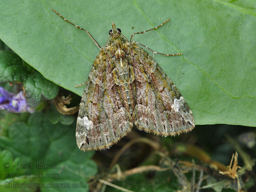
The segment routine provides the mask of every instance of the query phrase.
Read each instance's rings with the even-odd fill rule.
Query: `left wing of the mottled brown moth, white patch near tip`
[[[133,126],[114,83],[109,60],[102,49],[96,57],[80,103],[76,143],[80,150],[98,150],[116,143]]]

